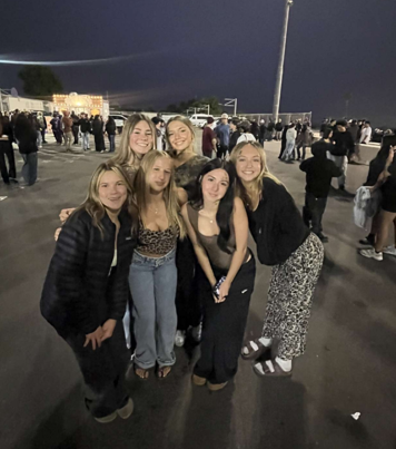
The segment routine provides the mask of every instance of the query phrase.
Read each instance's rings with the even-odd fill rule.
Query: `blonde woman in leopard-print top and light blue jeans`
[[[166,378],[176,362],[176,244],[185,235],[174,162],[167,153],[155,150],[145,156],[133,192],[139,216],[138,245],[129,272],[135,372],[147,379],[149,370],[158,365],[157,375]]]

